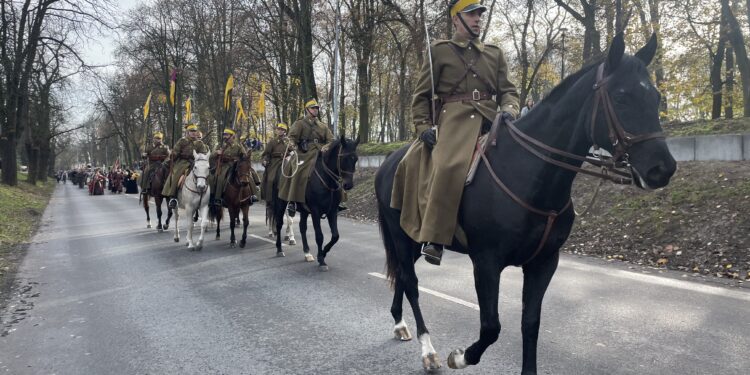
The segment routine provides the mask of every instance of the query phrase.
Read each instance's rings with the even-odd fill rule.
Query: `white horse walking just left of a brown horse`
[[[193,169],[185,178],[185,183],[177,192],[179,206],[174,210],[174,242],[180,242],[180,226],[178,219],[182,208],[188,217],[187,247],[190,250],[200,251],[203,248],[203,234],[208,225],[208,201],[211,199],[211,187],[208,186],[208,154],[199,154],[193,151]],[[193,215],[198,212],[201,220],[201,235],[198,241],[193,241],[193,227],[195,220]]]

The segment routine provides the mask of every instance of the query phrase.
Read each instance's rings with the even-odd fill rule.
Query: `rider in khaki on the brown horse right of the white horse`
[[[224,129],[221,139],[222,144],[208,159],[211,169],[213,170],[213,173],[211,174],[213,177],[211,181],[211,191],[214,193],[213,204],[219,207],[224,204],[224,201],[222,200],[224,188],[227,186],[229,172],[234,167],[234,163],[241,158],[250,157],[250,154],[245,147],[235,142],[235,131],[233,129]],[[250,184],[250,189],[252,190],[250,204],[252,204],[252,202],[258,201],[258,197],[254,184]]]

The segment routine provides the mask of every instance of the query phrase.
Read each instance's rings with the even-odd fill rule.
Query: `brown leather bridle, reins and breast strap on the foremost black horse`
[[[553,164],[555,166],[558,166],[563,169],[567,169],[576,173],[584,173],[591,176],[599,177],[602,179],[611,180],[616,183],[620,184],[631,184],[633,183],[633,175],[630,168],[630,162],[629,162],[629,154],[628,150],[635,144],[644,142],[650,139],[657,139],[657,138],[664,138],[663,132],[654,132],[654,133],[647,133],[642,135],[633,135],[628,133],[620,123],[620,120],[617,117],[617,114],[614,110],[614,105],[612,104],[612,99],[609,97],[609,93],[606,90],[607,83],[609,82],[612,75],[604,76],[604,63],[601,63],[596,72],[596,83],[594,83],[594,86],[592,87],[594,90],[594,104],[593,109],[591,111],[591,132],[589,134],[590,140],[593,143],[593,147],[595,150],[595,153],[593,156],[579,156],[572,153],[569,153],[567,151],[563,151],[551,146],[548,146],[539,140],[530,137],[529,135],[523,133],[521,130],[519,130],[511,121],[502,121],[501,114],[498,114],[497,117],[495,117],[495,121],[493,122],[492,129],[490,130],[489,134],[489,140],[490,144],[492,146],[497,145],[497,130],[502,123],[508,128],[508,133],[510,133],[513,140],[521,145],[524,149],[535,155],[536,157],[544,160],[545,162],[548,162],[550,164]],[[600,149],[600,146],[596,144],[596,138],[594,137],[595,129],[596,129],[596,119],[599,112],[599,107],[602,107],[603,110],[601,113],[604,114],[604,119],[607,123],[607,129],[609,133],[609,140],[612,143],[612,147],[614,148],[614,154],[611,158],[604,157],[600,153],[596,153]],[[576,167],[574,165],[571,165],[570,163],[566,163],[561,160],[554,159],[548,155],[545,155],[539,150],[535,149],[534,147],[541,148],[548,153],[552,155],[558,155],[562,156],[564,158],[578,160],[582,162],[587,162],[589,164],[598,166],[601,168],[601,172],[586,170],[580,167]],[[542,240],[539,243],[539,246],[536,248],[534,253],[529,257],[527,260],[525,260],[523,264],[527,264],[532,259],[534,259],[539,252],[544,248],[544,245],[547,242],[547,238],[549,237],[549,234],[552,230],[552,226],[555,223],[555,220],[557,217],[567,211],[573,201],[571,199],[568,199],[568,202],[563,206],[562,209],[556,211],[556,210],[541,210],[536,207],[531,206],[530,204],[526,203],[523,199],[521,199],[518,195],[513,193],[497,176],[495,171],[492,169],[492,165],[490,164],[489,159],[487,159],[486,156],[486,149],[485,151],[482,151],[480,153],[480,157],[482,158],[482,161],[484,161],[484,165],[487,168],[487,171],[492,176],[492,179],[495,181],[495,184],[497,184],[500,189],[502,189],[508,196],[511,197],[516,203],[518,203],[521,207],[535,213],[541,216],[547,217],[547,225],[544,228],[544,234],[542,236]]]

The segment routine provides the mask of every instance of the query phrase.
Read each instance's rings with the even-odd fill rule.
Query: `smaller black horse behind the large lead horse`
[[[357,145],[359,139],[351,140],[341,136],[331,143],[327,152],[321,152],[315,161],[310,178],[305,190],[305,205],[297,205],[300,213],[299,230],[302,236],[302,251],[305,259],[309,262],[314,258],[310,254],[310,246],[307,244],[307,217],[312,216],[313,228],[315,229],[315,243],[318,245],[318,266],[321,271],[328,271],[325,262],[326,255],[333,245],[339,240],[338,229],[338,206],[341,203],[342,190],[351,190],[354,187],[354,170],[357,164]],[[282,168],[279,168],[281,173]],[[279,181],[277,176],[275,181]],[[281,233],[284,224],[284,210],[287,202],[279,197],[277,183],[273,187],[273,222],[276,223],[276,233]],[[279,218],[274,220],[274,218]],[[331,229],[331,241],[323,247],[323,230],[320,220],[328,219]],[[276,253],[283,256],[281,250],[281,236],[276,236]]]

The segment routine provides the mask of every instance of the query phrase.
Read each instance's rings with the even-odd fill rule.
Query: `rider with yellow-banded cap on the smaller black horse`
[[[328,145],[333,142],[331,129],[320,121],[318,101],[315,98],[307,99],[304,111],[304,116],[295,121],[289,130],[289,149],[297,153],[302,164],[297,169],[293,163],[287,163],[279,182],[279,198],[289,202],[287,209],[291,213],[296,211],[297,203],[305,204],[305,189],[310,174],[315,169],[315,161],[320,152],[327,151]],[[291,178],[287,177],[290,175]],[[345,200],[346,195],[342,193],[341,201]],[[339,205],[339,211],[345,209],[346,207]]]

